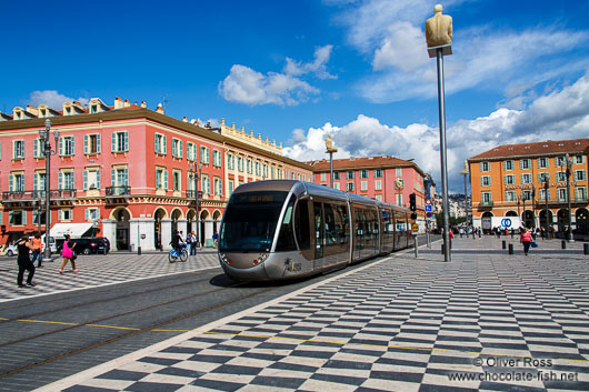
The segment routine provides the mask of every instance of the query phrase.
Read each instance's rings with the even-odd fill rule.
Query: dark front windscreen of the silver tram
[[[220,232],[221,251],[270,251],[287,192],[233,193]]]

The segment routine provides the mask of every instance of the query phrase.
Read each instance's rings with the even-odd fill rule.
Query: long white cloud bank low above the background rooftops
[[[395,155],[413,158],[440,184],[440,142],[438,127],[415,123],[406,128],[382,124],[359,114],[342,127],[296,130],[284,153],[298,160],[327,159],[325,138],[331,133],[339,149],[335,158]],[[523,110],[500,108],[489,115],[461,120],[447,128],[448,182],[451,192],[463,192],[459,173],[470,157],[509,143],[587,138],[589,135],[589,72],[571,86],[536,98]],[[467,142],[468,141],[468,142]]]

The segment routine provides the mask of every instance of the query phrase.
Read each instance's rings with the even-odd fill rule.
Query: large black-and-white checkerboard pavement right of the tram
[[[558,252],[547,241],[525,257],[500,240],[455,239],[449,263],[437,247],[197,328],[59,389],[589,390],[589,257],[579,245]]]

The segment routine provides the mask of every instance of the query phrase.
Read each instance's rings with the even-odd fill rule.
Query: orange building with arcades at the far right
[[[589,139],[499,145],[468,159],[476,227],[489,230],[505,218],[517,224],[568,228],[567,162],[571,225],[588,233]]]

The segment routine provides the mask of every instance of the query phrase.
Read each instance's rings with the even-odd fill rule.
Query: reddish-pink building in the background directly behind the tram
[[[313,182],[330,185],[329,160],[307,162]],[[387,203],[409,208],[409,194],[416,193],[418,222],[425,229],[428,174],[416,163],[395,157],[366,157],[333,160],[333,188]],[[435,184],[430,187],[433,199]]]

